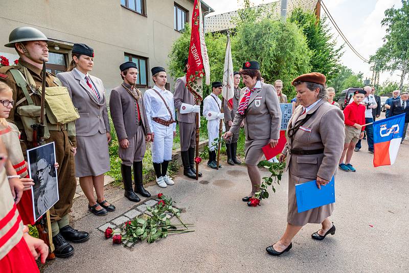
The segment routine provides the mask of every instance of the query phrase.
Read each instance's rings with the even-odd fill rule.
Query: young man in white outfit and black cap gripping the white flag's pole
[[[216,149],[218,148],[220,120],[224,119],[221,112],[221,100],[219,95],[223,85],[219,81],[212,82],[212,93],[203,100],[203,117],[208,121],[208,138],[209,138],[209,162],[208,166],[212,169],[217,168]],[[224,123],[223,123],[223,132]],[[219,166],[221,168],[221,166]]]

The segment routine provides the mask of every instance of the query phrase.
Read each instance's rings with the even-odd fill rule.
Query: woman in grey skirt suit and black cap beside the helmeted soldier
[[[75,122],[76,176],[88,199],[88,209],[102,216],[115,210],[104,197],[104,173],[110,170],[108,142],[111,140],[105,89],[99,78],[88,74],[93,69],[94,50],[86,44],[75,43],[72,55],[69,72],[59,73],[57,77],[68,88],[80,115]]]

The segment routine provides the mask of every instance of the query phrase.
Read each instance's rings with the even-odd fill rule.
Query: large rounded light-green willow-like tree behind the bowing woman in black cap
[[[263,13],[254,13],[252,9],[239,12],[236,35],[232,37],[233,65],[240,68],[245,61],[259,61],[265,81],[273,83],[281,79],[283,93],[291,98],[295,94],[291,81],[311,71],[311,51],[296,24],[282,23],[269,14],[268,10]],[[257,16],[263,18],[257,19]]]

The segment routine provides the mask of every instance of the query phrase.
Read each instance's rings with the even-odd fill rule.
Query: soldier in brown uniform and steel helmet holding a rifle
[[[46,35],[35,28],[19,27],[14,29],[10,33],[9,43],[5,46],[16,50],[20,56],[18,65],[13,67],[5,66],[0,69],[0,80],[5,80],[13,89],[13,100],[17,102],[16,106],[10,111],[9,119],[15,122],[21,131],[20,144],[25,157],[27,156],[27,149],[34,146],[32,141],[28,141],[28,139],[32,140],[33,135],[32,132],[27,131],[26,127],[23,126],[17,109],[29,104],[25,96],[26,90],[31,94],[30,97],[33,104],[41,105],[41,97],[32,93],[34,91],[37,93],[38,88],[41,87],[42,63],[43,60],[48,61],[49,57],[48,43],[50,41]],[[18,76],[14,76],[13,71],[15,70],[20,71],[21,75],[25,75],[25,80],[34,86],[22,84],[19,78],[16,78]],[[51,73],[47,73],[46,87],[55,86],[61,86],[60,81]],[[25,89],[23,90],[22,88]],[[70,101],[70,103],[72,102]],[[53,243],[55,246],[54,253],[57,257],[68,257],[74,253],[74,248],[66,240],[84,242],[89,238],[88,233],[74,230],[70,226],[68,217],[77,188],[77,181],[74,175],[74,154],[76,152],[75,124],[71,122],[55,125],[51,124],[47,117],[47,127],[50,135],[46,135],[48,137],[46,142],[55,142],[56,160],[59,163],[57,170],[58,180],[63,181],[63,183],[58,184],[59,200],[50,209]]]

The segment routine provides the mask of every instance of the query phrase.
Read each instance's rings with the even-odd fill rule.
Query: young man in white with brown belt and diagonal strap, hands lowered
[[[173,138],[176,135],[175,107],[173,94],[166,90],[166,71],[161,66],[151,69],[155,85],[146,90],[144,103],[146,117],[152,133],[152,161],[156,183],[161,188],[175,184],[167,174],[172,160]]]

